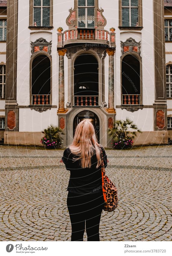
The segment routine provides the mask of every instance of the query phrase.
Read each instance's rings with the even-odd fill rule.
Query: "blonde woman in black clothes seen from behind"
[[[104,205],[100,148],[106,167],[107,156],[97,142],[94,126],[83,120],[76,127],[72,144],[64,150],[62,160],[70,171],[67,208],[72,226],[71,241],[83,241],[85,225],[87,241],[100,241],[99,224]]]

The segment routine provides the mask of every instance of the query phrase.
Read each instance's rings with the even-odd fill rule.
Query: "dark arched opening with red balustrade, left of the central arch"
[[[51,61],[38,55],[32,62],[32,104],[50,104]]]

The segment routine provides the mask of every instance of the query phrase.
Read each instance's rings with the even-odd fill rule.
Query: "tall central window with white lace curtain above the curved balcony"
[[[78,27],[94,28],[94,0],[78,0]]]

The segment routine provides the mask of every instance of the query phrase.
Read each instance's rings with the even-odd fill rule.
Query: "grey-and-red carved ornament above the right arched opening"
[[[122,55],[126,52],[135,52],[140,56],[141,41],[136,42],[132,37],[128,38],[125,42],[121,42],[121,53]]]

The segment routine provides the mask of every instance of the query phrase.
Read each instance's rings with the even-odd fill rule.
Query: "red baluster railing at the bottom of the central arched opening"
[[[74,96],[74,106],[82,106],[82,107],[89,107],[89,106],[99,106],[98,103],[99,96]]]

